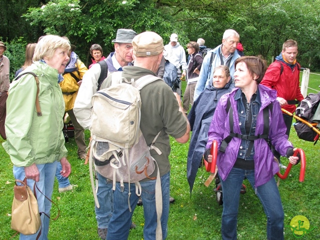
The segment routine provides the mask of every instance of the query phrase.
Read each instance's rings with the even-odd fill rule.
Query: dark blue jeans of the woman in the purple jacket
[[[254,188],[254,170],[233,167],[222,184],[222,239],[236,239],[236,223],[243,178],[246,177]],[[283,239],[284,213],[278,187],[274,177],[256,189],[256,195],[262,203],[267,217],[266,236],[268,240]]]

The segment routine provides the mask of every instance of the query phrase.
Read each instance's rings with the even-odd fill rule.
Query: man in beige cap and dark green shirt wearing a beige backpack
[[[132,40],[134,66],[124,66],[122,77],[136,81],[145,75],[156,75],[159,63],[162,58],[163,40],[155,32],[146,31],[136,35]],[[102,83],[101,88],[110,86],[112,76],[108,76]],[[126,84],[126,83],[123,83]],[[165,239],[167,235],[167,220],[169,213],[169,194],[170,194],[170,142],[169,135],[176,141],[185,143],[189,139],[190,126],[177,93],[173,93],[170,87],[161,79],[155,80],[140,90],[141,97],[141,120],[140,129],[149,145],[159,132],[159,136],[154,141],[161,154],[154,149],[150,150],[151,156],[155,159],[161,184],[162,204],[155,201],[156,180],[148,178],[140,181],[141,197],[144,211],[143,239]],[[108,126],[105,126],[108,127]],[[150,174],[154,177],[156,170]],[[113,213],[109,222],[107,239],[127,239],[129,234],[129,223],[133,211],[129,211],[128,194],[130,189],[130,207],[134,210],[138,196],[134,183],[116,182],[113,193]],[[162,209],[156,212],[156,208]],[[159,219],[159,221],[157,221]]]

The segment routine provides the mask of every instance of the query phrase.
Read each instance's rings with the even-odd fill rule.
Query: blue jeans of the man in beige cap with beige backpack
[[[161,227],[162,227],[162,239],[167,235],[167,222],[169,216],[169,196],[170,196],[170,172],[160,177],[161,190],[162,190],[162,215],[161,215]],[[144,228],[143,236],[144,240],[154,240],[155,230],[157,225],[157,215],[155,209],[155,181],[147,180],[140,182],[141,184],[141,197],[143,202],[144,213]],[[135,194],[135,184],[130,184],[130,206],[132,211],[129,211],[128,207],[128,183],[124,183],[124,190],[121,192],[120,183],[116,182],[116,188],[113,193],[113,213],[109,222],[108,232],[106,239],[108,240],[124,240],[128,238],[130,221],[136,206],[138,196]]]

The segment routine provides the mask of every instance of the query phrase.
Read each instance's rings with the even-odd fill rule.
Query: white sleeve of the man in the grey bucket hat
[[[74,115],[84,129],[89,129],[91,124],[91,98],[97,90],[100,73],[101,68],[99,64],[93,64],[90,69],[84,73],[82,83],[74,101]]]

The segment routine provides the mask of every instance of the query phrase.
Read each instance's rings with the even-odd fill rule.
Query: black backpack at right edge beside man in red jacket
[[[300,104],[295,110],[295,114],[300,118],[302,118],[303,120],[306,120],[311,123],[313,115],[319,105],[319,102],[320,102],[320,92],[309,93],[300,102]],[[315,137],[317,136],[317,133],[307,124],[299,120],[296,120],[296,123],[294,124],[294,129],[300,139],[303,139],[306,141],[315,140],[314,144],[316,143],[317,139],[315,139]]]

